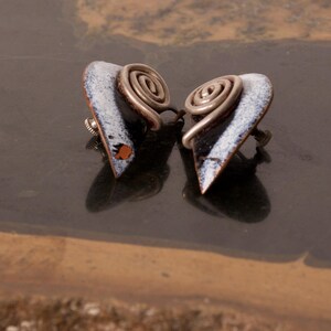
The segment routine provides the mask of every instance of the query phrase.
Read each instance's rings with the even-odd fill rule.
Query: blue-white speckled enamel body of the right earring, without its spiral
[[[193,152],[202,193],[223,171],[228,159],[260,120],[271,102],[273,85],[267,76],[246,74],[241,75],[241,78],[244,89],[231,120],[211,130],[214,131],[211,135],[217,135],[214,145],[209,142],[209,132],[194,138]]]

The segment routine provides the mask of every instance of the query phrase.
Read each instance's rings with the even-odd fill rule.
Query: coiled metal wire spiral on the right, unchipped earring
[[[242,78],[235,75],[222,76],[195,88],[185,100],[185,111],[202,119],[183,136],[183,146],[191,149],[197,134],[227,117],[242,90]]]

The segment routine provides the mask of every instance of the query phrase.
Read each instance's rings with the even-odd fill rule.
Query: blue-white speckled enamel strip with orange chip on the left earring
[[[83,77],[89,108],[98,122],[115,177],[120,177],[136,156],[128,122],[124,118],[122,109],[119,108],[120,97],[116,77],[120,70],[121,66],[111,63],[93,62],[86,67]],[[118,157],[120,148],[126,150],[125,159]]]

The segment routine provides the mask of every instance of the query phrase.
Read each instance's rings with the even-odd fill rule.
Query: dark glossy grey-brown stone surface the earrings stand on
[[[1,231],[212,249],[266,260],[308,254],[306,263],[329,267],[329,43],[161,47],[103,36],[89,43],[74,35],[72,13],[63,13],[61,1],[12,0],[0,7]],[[179,106],[215,76],[268,75],[275,98],[261,128],[274,134],[267,147],[273,161],[242,178],[224,177],[214,193],[200,197],[170,140],[147,153],[141,178],[114,185],[106,166],[100,172],[100,157],[85,149],[88,110],[81,78],[94,60],[153,66]],[[249,159],[254,147],[247,142],[242,151]],[[148,199],[137,199],[140,194]]]

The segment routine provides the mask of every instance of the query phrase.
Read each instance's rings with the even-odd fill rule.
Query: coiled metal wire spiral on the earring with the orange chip
[[[160,113],[169,109],[170,95],[163,78],[150,66],[128,64],[118,75],[118,87],[152,130],[161,127]]]

